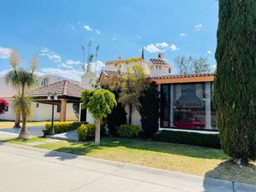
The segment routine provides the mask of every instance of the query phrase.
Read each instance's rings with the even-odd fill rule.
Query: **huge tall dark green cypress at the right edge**
[[[256,158],[256,1],[219,0],[214,103],[222,148],[237,164]]]

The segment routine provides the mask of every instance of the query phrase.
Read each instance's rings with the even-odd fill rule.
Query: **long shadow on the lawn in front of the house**
[[[45,148],[44,145],[39,148]],[[93,142],[88,143],[55,143],[47,146],[50,150],[61,151],[70,154],[86,155],[92,150],[104,148],[138,149],[149,152],[160,152],[165,154],[177,154],[201,159],[228,160],[229,158],[222,150],[216,148],[203,148],[177,143],[160,143],[144,141],[141,139],[126,139],[119,137],[102,137],[101,146],[96,147]]]

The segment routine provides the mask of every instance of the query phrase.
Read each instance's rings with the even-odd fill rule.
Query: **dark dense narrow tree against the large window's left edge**
[[[159,128],[159,96],[158,86],[155,82],[143,90],[143,96],[139,97],[139,113],[141,114],[142,127],[145,137],[153,137]]]

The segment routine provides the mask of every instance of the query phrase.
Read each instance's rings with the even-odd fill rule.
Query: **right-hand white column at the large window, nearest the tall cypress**
[[[206,129],[212,129],[211,125],[211,83],[206,82]]]

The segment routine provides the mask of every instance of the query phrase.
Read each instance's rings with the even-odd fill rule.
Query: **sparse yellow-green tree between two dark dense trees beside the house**
[[[131,58],[126,63],[137,61],[137,58]],[[113,90],[119,90],[119,102],[129,107],[129,124],[131,125],[131,113],[134,108],[139,108],[138,98],[142,96],[143,90],[148,86],[144,68],[140,65],[127,67],[127,72],[122,73],[119,70],[119,77],[111,84]]]

